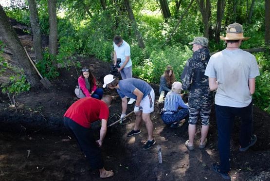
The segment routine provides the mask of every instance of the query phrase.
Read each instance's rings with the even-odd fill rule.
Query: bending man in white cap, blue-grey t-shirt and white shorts
[[[126,116],[127,97],[136,99],[134,112],[136,115],[135,126],[132,131],[127,133],[127,136],[140,134],[142,131],[139,129],[142,119],[144,120],[147,132],[148,141],[143,149],[149,149],[156,142],[153,139],[153,124],[150,119],[150,113],[154,111],[155,92],[149,84],[137,78],[126,78],[119,80],[115,76],[108,74],[104,77],[103,88],[116,89],[122,98],[122,115],[123,120]]]

